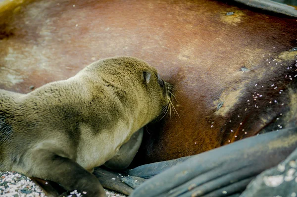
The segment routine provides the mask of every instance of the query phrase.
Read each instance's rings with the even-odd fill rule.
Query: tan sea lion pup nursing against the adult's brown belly
[[[156,69],[133,57],[99,60],[26,95],[0,90],[0,171],[103,197],[93,168],[158,117],[170,91]]]

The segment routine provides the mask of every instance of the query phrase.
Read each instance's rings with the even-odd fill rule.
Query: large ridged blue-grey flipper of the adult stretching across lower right
[[[283,161],[297,147],[297,128],[250,137],[189,158],[138,187],[131,197],[228,196]]]

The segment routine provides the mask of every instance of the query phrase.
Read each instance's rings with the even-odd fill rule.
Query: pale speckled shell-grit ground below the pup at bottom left
[[[113,191],[105,190],[107,197],[127,197]],[[1,197],[46,197],[41,188],[30,178],[16,172],[0,172]],[[78,194],[82,197],[83,195]],[[70,196],[69,196],[70,197]]]

